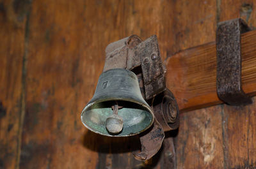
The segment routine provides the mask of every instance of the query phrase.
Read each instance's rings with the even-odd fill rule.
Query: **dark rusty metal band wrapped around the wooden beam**
[[[241,33],[250,31],[241,19],[220,22],[216,31],[218,97],[229,105],[252,103],[241,85]]]

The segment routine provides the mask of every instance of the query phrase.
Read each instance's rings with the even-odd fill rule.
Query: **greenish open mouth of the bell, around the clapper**
[[[118,105],[118,115],[122,117],[123,128],[119,133],[111,133],[106,128],[106,121],[113,115],[112,105]],[[147,130],[154,122],[154,115],[150,107],[134,101],[115,99],[109,101],[97,101],[84,107],[81,114],[81,121],[86,128],[95,133],[105,136],[133,136]]]

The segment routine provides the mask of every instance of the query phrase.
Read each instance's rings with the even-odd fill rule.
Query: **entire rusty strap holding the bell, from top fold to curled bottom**
[[[154,124],[147,133],[140,135],[141,152],[134,154],[134,158],[146,161],[161,148],[164,131],[179,127],[179,108],[172,92],[166,89],[157,36],[142,41],[132,35],[110,43],[106,48],[104,71],[113,68],[125,68],[136,73],[141,94],[154,110]],[[172,154],[175,154],[174,149]]]

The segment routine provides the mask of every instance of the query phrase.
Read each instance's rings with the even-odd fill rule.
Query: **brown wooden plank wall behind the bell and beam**
[[[253,0],[0,1],[0,168],[164,168],[141,163],[137,137],[83,127],[108,43],[156,34],[162,59],[215,40],[216,24],[256,26]],[[171,88],[170,88],[171,89]],[[172,90],[172,89],[171,89]],[[180,115],[177,168],[256,168],[256,104]]]

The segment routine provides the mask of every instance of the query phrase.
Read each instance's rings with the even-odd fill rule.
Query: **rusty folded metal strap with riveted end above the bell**
[[[113,68],[127,70],[140,68],[143,75],[145,99],[152,99],[165,90],[164,68],[156,35],[145,41],[132,35],[110,43],[106,47],[106,62],[103,71]]]

